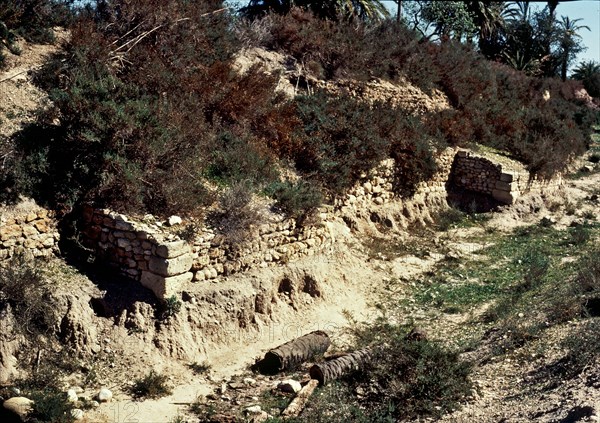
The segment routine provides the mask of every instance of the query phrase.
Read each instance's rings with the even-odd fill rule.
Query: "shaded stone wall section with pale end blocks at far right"
[[[502,204],[512,204],[524,193],[557,187],[562,180],[560,176],[550,181],[538,180],[526,171],[515,170],[481,155],[460,150],[452,165],[451,183],[469,191],[490,195]]]

